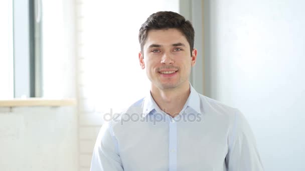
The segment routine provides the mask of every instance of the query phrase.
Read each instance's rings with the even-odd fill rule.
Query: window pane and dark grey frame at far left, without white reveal
[[[0,98],[40,96],[39,22],[40,0],[2,0],[0,2]]]

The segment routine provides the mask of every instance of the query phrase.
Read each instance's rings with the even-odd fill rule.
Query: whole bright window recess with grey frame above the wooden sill
[[[66,0],[0,2],[1,99],[75,97],[71,4]]]

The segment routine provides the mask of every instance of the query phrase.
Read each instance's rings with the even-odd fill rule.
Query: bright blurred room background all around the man
[[[1,0],[0,170],[90,168],[106,113],[149,90],[138,30],[191,20],[198,92],[239,108],[265,170],[305,170],[304,0]],[[187,137],[186,137],[187,138]]]

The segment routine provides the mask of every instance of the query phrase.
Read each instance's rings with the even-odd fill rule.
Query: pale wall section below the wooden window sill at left
[[[75,107],[0,107],[0,170],[77,170],[76,126]]]

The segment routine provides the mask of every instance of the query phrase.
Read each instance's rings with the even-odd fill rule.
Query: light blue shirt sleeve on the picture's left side
[[[118,154],[117,140],[111,124],[105,123],[97,136],[90,171],[121,171],[123,165]]]

